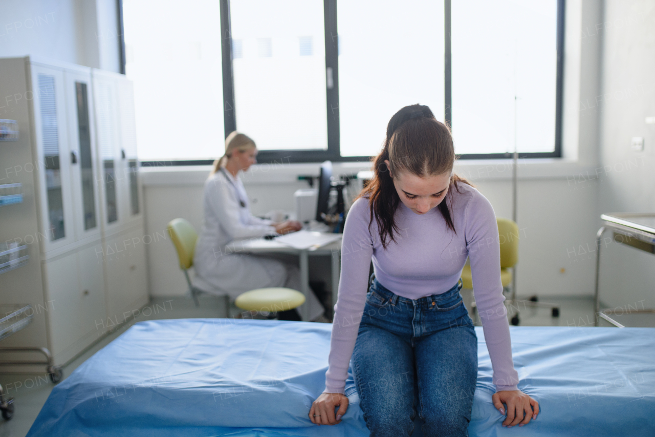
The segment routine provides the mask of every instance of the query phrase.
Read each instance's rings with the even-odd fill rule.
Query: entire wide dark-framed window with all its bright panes
[[[260,162],[364,160],[394,112],[415,103],[451,124],[462,158],[508,157],[515,146],[561,156],[563,7],[191,0],[162,10],[124,0],[140,158],[206,163],[238,129]]]

